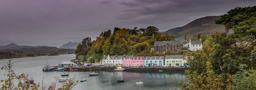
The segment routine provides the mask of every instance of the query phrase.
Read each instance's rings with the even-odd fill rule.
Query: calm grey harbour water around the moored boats
[[[75,55],[59,55],[51,57],[32,57],[32,58],[13,58],[12,62],[14,71],[17,74],[29,74],[34,78],[35,83],[41,83],[45,77],[45,85],[48,86],[54,81],[54,77],[60,77],[62,72],[42,72],[42,67],[46,63],[51,66],[57,65],[62,61],[70,61]],[[0,66],[7,63],[7,60],[0,60]],[[76,79],[87,81],[78,83],[73,89],[174,89],[178,86],[178,81],[188,81],[184,72],[112,72],[112,71],[95,71],[100,75],[89,77],[91,72],[65,72],[70,74],[69,77],[76,75]],[[0,71],[0,80],[7,78],[5,71]],[[67,77],[65,77],[67,78]],[[125,83],[116,83],[116,80],[125,80]],[[137,81],[144,82],[144,85],[136,85]],[[57,82],[57,88],[62,86],[62,82]]]

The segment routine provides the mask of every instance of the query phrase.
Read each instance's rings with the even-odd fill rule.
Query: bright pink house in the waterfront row
[[[123,59],[123,66],[143,66],[144,57],[133,57],[131,55],[125,56]]]

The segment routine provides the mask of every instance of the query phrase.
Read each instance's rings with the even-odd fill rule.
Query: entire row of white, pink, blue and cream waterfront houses
[[[133,55],[104,56],[100,61],[104,66],[184,66],[191,56],[166,55],[133,57]]]

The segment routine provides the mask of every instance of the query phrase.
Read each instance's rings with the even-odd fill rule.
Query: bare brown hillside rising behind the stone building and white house
[[[213,35],[216,32],[225,32],[224,25],[218,25],[214,22],[219,18],[221,18],[221,16],[206,16],[189,22],[183,27],[169,29],[163,33],[168,33],[175,38],[184,38],[185,35],[187,38],[192,38],[198,34]]]

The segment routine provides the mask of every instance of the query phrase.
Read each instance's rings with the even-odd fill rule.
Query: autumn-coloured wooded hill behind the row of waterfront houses
[[[173,36],[167,33],[158,32],[158,28],[148,26],[147,29],[120,29],[115,27],[111,30],[101,32],[97,40],[84,38],[75,50],[76,58],[78,55],[85,55],[86,58],[100,60],[103,55],[159,55],[151,52],[155,41],[174,41]]]

